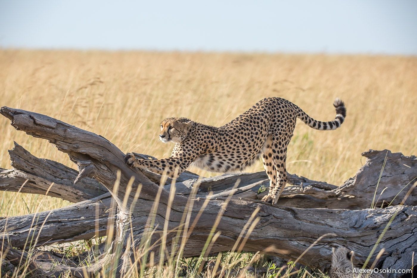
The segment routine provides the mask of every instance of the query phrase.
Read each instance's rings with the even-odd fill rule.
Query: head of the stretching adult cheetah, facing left
[[[194,122],[186,118],[168,118],[161,123],[159,139],[166,142],[181,143]]]

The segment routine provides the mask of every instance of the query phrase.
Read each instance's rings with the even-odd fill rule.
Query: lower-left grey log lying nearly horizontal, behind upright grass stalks
[[[7,217],[0,220],[0,240],[6,238],[13,247],[27,250],[104,236],[108,222],[116,219],[111,199],[110,193],[105,193],[56,210]]]

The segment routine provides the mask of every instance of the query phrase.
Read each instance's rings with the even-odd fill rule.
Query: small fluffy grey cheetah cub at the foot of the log
[[[354,273],[354,269],[358,268],[353,264],[354,252],[347,248],[339,247],[333,251],[332,266],[330,267],[330,278],[384,278],[381,273]],[[359,271],[357,271],[359,272]]]

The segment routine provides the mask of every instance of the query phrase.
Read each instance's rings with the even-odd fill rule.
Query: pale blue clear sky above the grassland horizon
[[[0,47],[417,55],[417,0],[0,0]]]

